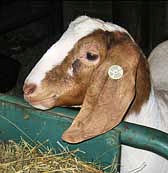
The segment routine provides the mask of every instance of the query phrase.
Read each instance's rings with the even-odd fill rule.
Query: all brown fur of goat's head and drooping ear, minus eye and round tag
[[[87,52],[98,59],[87,60]],[[111,65],[123,68],[121,79],[108,76]],[[67,73],[69,68],[73,76]],[[83,103],[62,137],[77,143],[111,130],[127,114],[140,111],[150,94],[149,69],[126,33],[97,30],[75,44],[63,63],[46,74],[38,91],[37,100],[54,94],[50,102],[43,103],[47,107]]]

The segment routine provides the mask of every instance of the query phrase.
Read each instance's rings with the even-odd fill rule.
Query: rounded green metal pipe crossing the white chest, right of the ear
[[[128,122],[120,123],[115,130],[120,132],[121,144],[152,151],[168,159],[167,133]]]

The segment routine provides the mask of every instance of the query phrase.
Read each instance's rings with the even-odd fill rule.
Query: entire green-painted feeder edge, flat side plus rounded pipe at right
[[[108,166],[115,163],[119,170],[121,144],[149,150],[168,159],[168,135],[161,131],[122,122],[110,132],[80,144],[67,144],[61,140],[62,133],[70,126],[78,109],[54,108],[40,111],[28,105],[23,98],[0,95],[0,140],[29,142],[48,140],[50,147],[79,148],[83,160]],[[59,145],[58,145],[59,144]],[[117,170],[118,169],[118,170]],[[110,172],[110,169],[107,170]]]

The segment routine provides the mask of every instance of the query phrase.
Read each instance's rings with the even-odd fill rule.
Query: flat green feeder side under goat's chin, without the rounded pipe
[[[56,152],[62,148],[74,150],[79,148],[85,154],[78,156],[109,166],[113,163],[113,172],[117,172],[120,159],[119,133],[110,131],[92,140],[71,145],[61,140],[63,132],[70,126],[79,109],[57,107],[49,111],[32,108],[23,98],[0,95],[0,140],[20,141],[21,137],[29,143],[44,142]],[[63,146],[63,147],[60,147]],[[112,172],[111,167],[106,172]]]

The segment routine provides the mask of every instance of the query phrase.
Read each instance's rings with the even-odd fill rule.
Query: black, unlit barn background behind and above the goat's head
[[[0,92],[21,96],[34,64],[80,15],[126,28],[146,56],[168,38],[166,1],[1,0]]]

